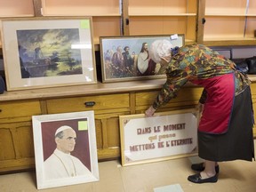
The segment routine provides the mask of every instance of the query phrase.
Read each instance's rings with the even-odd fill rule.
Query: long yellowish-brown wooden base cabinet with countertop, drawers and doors
[[[256,108],[256,79],[251,85]],[[119,158],[119,116],[144,113],[164,79],[5,92],[0,97],[0,172],[35,167],[31,116],[94,111],[99,161]],[[202,87],[183,87],[160,111],[195,108]],[[256,119],[256,116],[254,114]],[[256,135],[256,127],[253,129]]]

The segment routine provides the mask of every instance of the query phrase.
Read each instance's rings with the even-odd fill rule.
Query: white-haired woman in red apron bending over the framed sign
[[[198,156],[204,163],[192,164],[198,173],[188,176],[194,183],[217,182],[218,162],[236,159],[252,161],[253,111],[250,81],[236,70],[236,64],[202,44],[173,48],[168,40],[156,40],[149,55],[157,62],[167,62],[167,80],[145,114],[177,96],[180,88],[191,82],[204,87],[198,108],[202,116],[197,130]]]

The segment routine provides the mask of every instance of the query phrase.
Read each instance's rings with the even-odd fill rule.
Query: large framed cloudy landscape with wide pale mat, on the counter
[[[7,91],[97,83],[91,17],[1,21]]]

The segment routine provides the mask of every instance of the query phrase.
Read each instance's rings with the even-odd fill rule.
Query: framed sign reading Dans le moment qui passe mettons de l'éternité
[[[197,155],[196,109],[119,116],[122,165]]]

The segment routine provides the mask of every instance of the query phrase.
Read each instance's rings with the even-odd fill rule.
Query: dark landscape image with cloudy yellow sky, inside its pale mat
[[[78,28],[17,30],[22,78],[83,74]]]

